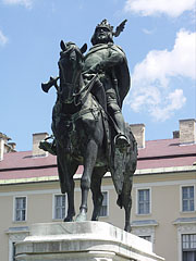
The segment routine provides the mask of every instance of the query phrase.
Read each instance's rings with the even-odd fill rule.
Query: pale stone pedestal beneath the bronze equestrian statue
[[[151,243],[105,222],[35,224],[17,261],[162,261]]]

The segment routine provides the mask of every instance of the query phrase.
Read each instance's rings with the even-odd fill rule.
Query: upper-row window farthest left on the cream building
[[[14,221],[26,220],[26,197],[15,198],[15,213]]]

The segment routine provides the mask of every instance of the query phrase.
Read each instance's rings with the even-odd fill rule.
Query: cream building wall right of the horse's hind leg
[[[196,173],[134,177],[132,220],[155,220],[158,222],[159,225],[156,227],[155,235],[155,252],[164,257],[166,261],[179,261],[176,250],[177,231],[173,222],[179,217],[194,217],[196,215],[196,212],[183,213],[181,211],[181,188],[182,185],[192,185],[188,181],[196,181]],[[151,190],[151,213],[149,215],[138,215],[136,213],[138,188],[149,188]]]

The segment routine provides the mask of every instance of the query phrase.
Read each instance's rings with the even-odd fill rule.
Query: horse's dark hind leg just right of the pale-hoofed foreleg
[[[101,179],[107,170],[105,167],[95,167],[91,175],[90,189],[93,194],[94,212],[91,221],[98,221],[100,209],[102,206],[103,196],[101,194]]]

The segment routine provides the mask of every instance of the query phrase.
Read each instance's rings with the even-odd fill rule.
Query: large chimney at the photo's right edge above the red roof
[[[195,133],[195,119],[180,120],[180,144],[195,144],[196,133]]]

